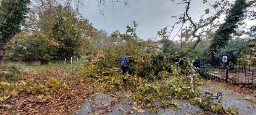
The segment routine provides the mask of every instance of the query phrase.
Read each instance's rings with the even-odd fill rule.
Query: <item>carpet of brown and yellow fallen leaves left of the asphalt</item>
[[[85,99],[95,95],[72,74],[70,69],[40,69],[35,74],[20,76],[16,83],[0,82],[0,114],[63,114],[79,109]]]

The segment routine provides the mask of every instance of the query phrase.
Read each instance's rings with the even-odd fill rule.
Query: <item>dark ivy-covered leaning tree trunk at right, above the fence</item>
[[[236,0],[225,19],[225,23],[216,31],[210,49],[215,49],[217,46],[221,48],[227,44],[228,40],[230,40],[230,35],[236,32],[237,24],[244,19],[244,11],[246,8],[246,0]]]

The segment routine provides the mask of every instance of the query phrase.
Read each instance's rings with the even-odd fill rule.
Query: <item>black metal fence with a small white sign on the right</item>
[[[221,56],[196,60],[203,78],[218,78],[227,83],[243,84],[256,88],[256,60],[239,56]]]

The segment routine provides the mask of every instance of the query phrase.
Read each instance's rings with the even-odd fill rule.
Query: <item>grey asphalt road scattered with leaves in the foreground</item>
[[[256,105],[252,101],[256,100],[256,94],[242,95],[234,93],[230,90],[220,89],[213,85],[199,86],[199,89],[210,92],[211,89],[221,91],[224,96],[221,100],[224,106],[236,108],[239,113],[238,115],[256,115]],[[169,101],[175,101],[180,104],[181,109],[174,110],[172,108],[161,108],[157,109],[157,113],[152,113],[147,108],[143,108],[132,98],[128,98],[127,93],[114,93],[100,94],[94,96],[91,100],[87,100],[81,105],[80,109],[77,109],[75,115],[215,115],[215,113],[207,112],[201,109],[198,105],[192,105],[189,100],[180,100],[173,98]],[[246,99],[250,97],[250,100]],[[159,105],[159,103],[154,103]],[[145,112],[139,113],[136,109],[143,109]]]

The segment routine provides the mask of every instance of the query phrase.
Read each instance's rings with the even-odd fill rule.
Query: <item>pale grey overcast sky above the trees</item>
[[[83,11],[81,11],[82,15],[87,17],[96,29],[105,30],[108,34],[116,30],[124,33],[126,26],[133,26],[133,20],[135,20],[138,24],[137,35],[144,40],[157,37],[158,30],[176,22],[172,18],[173,15],[181,14],[184,11],[184,6],[177,6],[170,0],[129,0],[128,8],[119,3],[112,4],[112,0],[105,1],[105,18],[102,16],[96,0],[85,0]],[[198,20],[207,8],[202,1],[192,0],[191,2],[189,14],[193,20]]]

